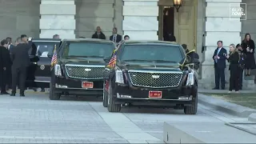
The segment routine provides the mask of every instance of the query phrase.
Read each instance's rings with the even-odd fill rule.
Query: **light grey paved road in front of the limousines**
[[[0,95],[0,143],[159,143],[163,122],[211,125],[246,121],[201,105],[197,115],[149,108],[109,113],[100,100],[63,97],[50,101],[46,94],[27,94],[25,98]]]

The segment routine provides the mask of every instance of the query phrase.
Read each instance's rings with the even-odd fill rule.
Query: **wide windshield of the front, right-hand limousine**
[[[122,61],[170,61],[182,62],[185,55],[179,46],[126,45],[121,54]]]

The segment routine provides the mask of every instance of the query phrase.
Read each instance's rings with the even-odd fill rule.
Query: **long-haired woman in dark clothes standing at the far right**
[[[246,54],[246,65],[245,72],[246,76],[250,76],[250,70],[254,70],[256,68],[255,58],[254,58],[254,49],[255,44],[254,41],[250,38],[250,34],[246,34],[244,40],[242,41],[242,50],[243,53]]]

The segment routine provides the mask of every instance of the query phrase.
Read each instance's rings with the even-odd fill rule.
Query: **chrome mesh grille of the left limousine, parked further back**
[[[104,78],[105,66],[66,65],[65,69],[70,78],[101,79]]]

